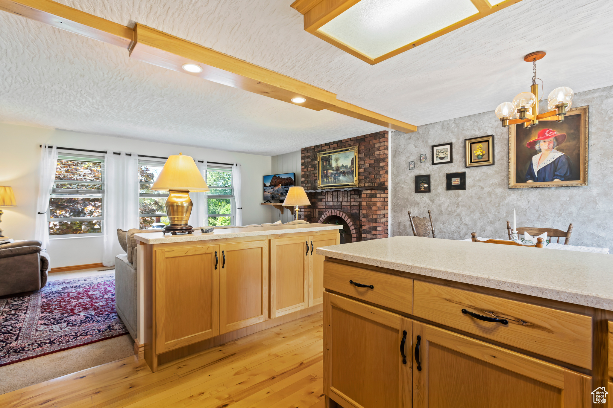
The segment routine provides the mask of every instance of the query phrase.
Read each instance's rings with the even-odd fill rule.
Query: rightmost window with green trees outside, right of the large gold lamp
[[[234,225],[234,187],[232,168],[207,167],[208,224],[210,226]]]

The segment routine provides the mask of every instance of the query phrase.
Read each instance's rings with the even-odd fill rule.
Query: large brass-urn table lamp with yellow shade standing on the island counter
[[[151,190],[168,191],[166,214],[170,225],[164,227],[164,234],[194,232],[191,225],[188,225],[192,209],[189,193],[208,191],[208,185],[193,158],[184,156],[183,153],[170,155]]]

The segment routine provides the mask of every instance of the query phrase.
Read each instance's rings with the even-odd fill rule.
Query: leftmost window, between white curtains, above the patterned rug
[[[49,235],[102,235],[104,158],[59,154],[49,200]]]

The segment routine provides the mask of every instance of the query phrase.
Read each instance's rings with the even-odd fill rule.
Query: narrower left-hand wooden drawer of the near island
[[[349,281],[372,285],[357,287]],[[413,280],[324,261],[324,287],[366,302],[413,314]]]

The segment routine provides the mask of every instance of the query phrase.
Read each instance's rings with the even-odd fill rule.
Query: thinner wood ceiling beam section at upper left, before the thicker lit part
[[[0,0],[0,10],[126,49],[134,34],[129,27],[50,0]]]

